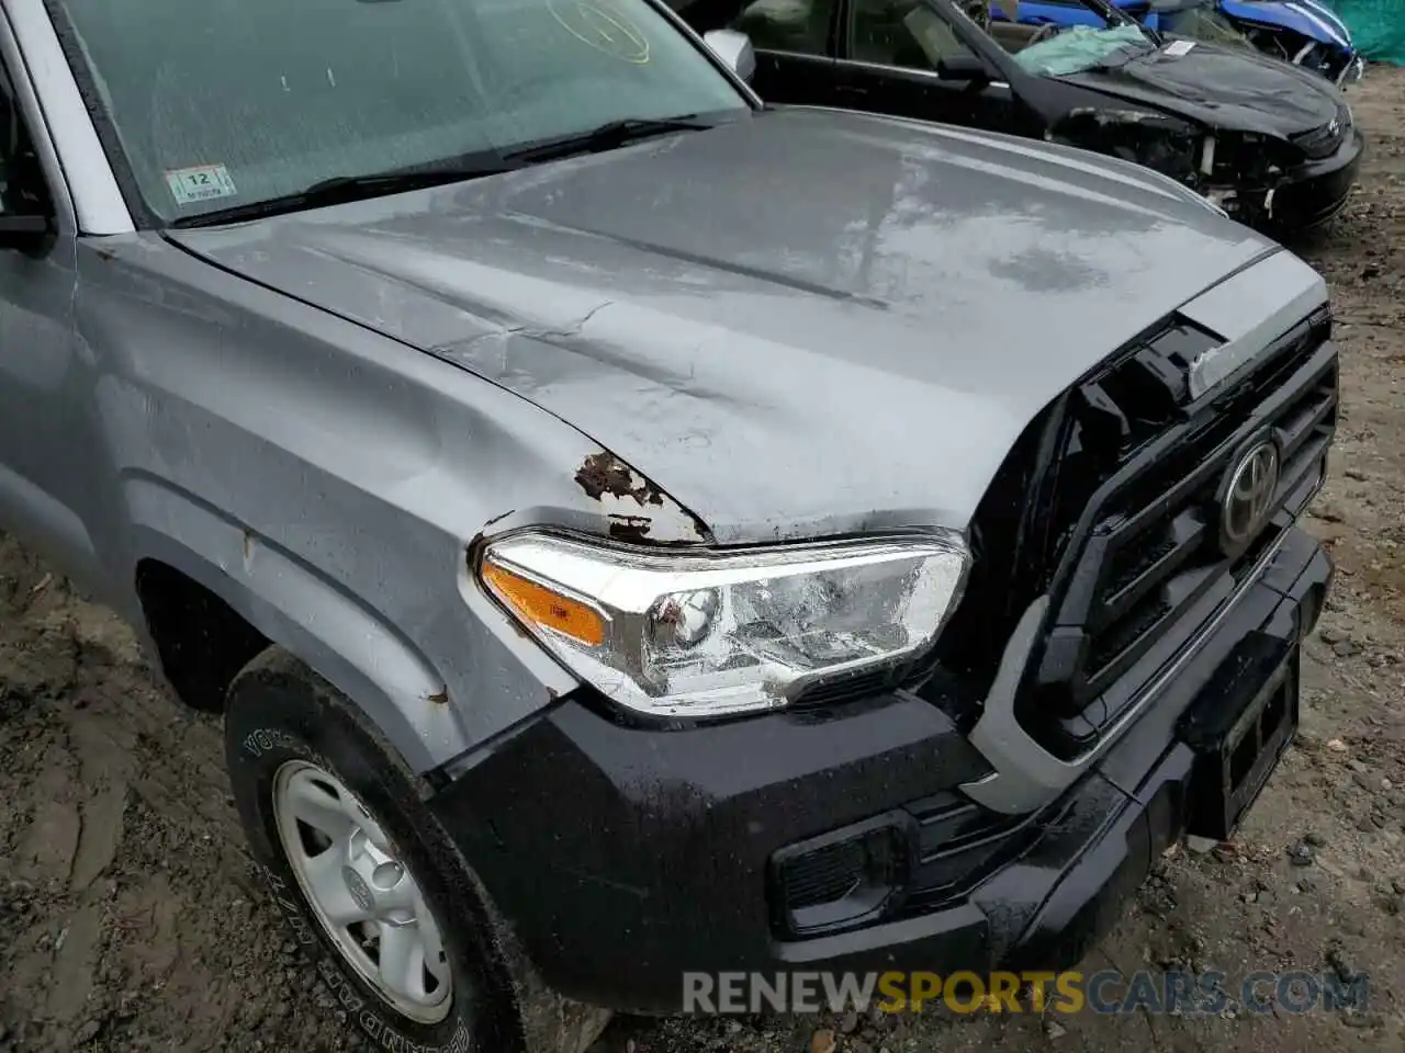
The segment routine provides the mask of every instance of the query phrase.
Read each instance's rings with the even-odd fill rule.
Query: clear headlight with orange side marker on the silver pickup
[[[917,654],[960,600],[968,563],[954,534],[684,553],[525,532],[489,545],[479,574],[614,702],[718,716]]]

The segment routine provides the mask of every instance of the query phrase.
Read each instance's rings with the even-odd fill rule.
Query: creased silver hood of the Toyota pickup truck
[[[1276,250],[1131,164],[799,108],[169,236],[532,400],[721,542],[964,528],[1041,407]]]

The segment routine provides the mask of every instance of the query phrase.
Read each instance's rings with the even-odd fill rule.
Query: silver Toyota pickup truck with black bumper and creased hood
[[[0,10],[0,525],[379,1047],[1068,966],[1291,739],[1332,320],[1190,191],[656,0]]]

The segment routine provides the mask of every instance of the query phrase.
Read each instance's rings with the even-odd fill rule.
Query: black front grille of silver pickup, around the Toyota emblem
[[[1017,715],[1054,753],[1092,746],[1116,717],[1100,692],[1193,604],[1232,591],[1311,496],[1336,424],[1331,330],[1324,307],[1256,355],[1252,372],[1193,397],[1193,364],[1224,340],[1172,316],[1050,404],[976,510],[975,560],[939,640],[940,667],[984,698],[1020,616],[1048,595]],[[1225,555],[1218,487],[1245,444],[1270,431],[1286,511]],[[946,688],[916,691],[946,708]]]

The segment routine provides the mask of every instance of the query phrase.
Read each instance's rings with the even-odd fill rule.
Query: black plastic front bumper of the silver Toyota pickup
[[[908,692],[686,731],[563,699],[454,765],[431,807],[542,979],[580,1001],[676,1011],[684,972],[1071,967],[1186,828],[1200,783],[1184,730],[1242,705],[1246,678],[1295,665],[1331,576],[1326,553],[1288,532],[1128,733],[1035,821],[993,838],[1010,852],[846,931],[785,934],[776,854],[920,816],[988,767]]]

